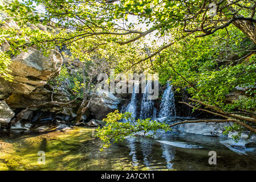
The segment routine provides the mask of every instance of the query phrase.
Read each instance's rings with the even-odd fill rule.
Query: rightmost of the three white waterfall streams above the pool
[[[159,118],[176,116],[172,85],[167,83],[166,86],[167,88],[162,95]]]

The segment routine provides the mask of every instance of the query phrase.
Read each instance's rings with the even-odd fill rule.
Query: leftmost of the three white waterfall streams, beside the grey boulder
[[[140,84],[135,83],[133,86],[131,102],[129,102],[129,104],[125,109],[125,112],[129,112],[132,114],[132,118],[137,117],[137,111],[136,111],[137,110],[137,93],[139,93],[139,89],[140,89]]]

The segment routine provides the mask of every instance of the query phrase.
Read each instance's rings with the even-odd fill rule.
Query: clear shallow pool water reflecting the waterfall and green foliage
[[[95,134],[75,127],[0,137],[0,170],[256,170],[255,153],[239,155],[219,143],[224,138],[159,132],[155,139],[129,138],[100,152]],[[37,163],[38,151],[46,152],[46,164]],[[208,164],[209,151],[217,152],[217,165]]]

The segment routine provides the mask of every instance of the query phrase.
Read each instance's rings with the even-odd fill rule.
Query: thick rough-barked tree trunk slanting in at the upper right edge
[[[233,22],[256,45],[256,28],[249,20],[235,20]]]

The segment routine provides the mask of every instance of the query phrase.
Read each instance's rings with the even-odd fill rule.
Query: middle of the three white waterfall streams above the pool
[[[152,81],[148,81],[145,91],[143,93],[143,99],[141,101],[141,111],[140,111],[140,119],[146,119],[146,118],[156,118],[156,108],[154,107],[154,101],[150,99],[149,92],[152,86]],[[155,115],[155,116],[154,116]]]

